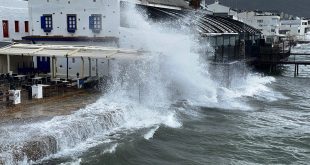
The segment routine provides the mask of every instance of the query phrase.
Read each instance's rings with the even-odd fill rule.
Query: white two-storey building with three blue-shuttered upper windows
[[[23,37],[24,41],[45,45],[119,46],[119,1],[28,0],[28,8],[30,32]],[[66,54],[57,56],[52,64],[52,55],[33,56],[33,68],[52,72],[54,65],[58,76],[82,77],[84,72],[89,73],[87,76],[96,76],[96,69],[107,65],[102,58],[99,61],[88,57],[67,60]]]

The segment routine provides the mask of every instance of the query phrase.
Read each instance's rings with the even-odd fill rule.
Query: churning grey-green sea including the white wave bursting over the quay
[[[310,162],[309,67],[298,78],[290,67],[274,77],[237,71],[223,86],[225,78],[213,78],[217,70],[195,53],[212,49],[207,43],[201,48],[192,35],[149,23],[134,9],[127,16],[136,30],[122,44],[145,56],[113,61],[107,93],[86,108],[0,125],[0,164]]]

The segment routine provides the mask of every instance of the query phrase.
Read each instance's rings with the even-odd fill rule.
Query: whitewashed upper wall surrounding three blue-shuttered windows
[[[118,37],[120,27],[119,0],[29,0],[31,35],[37,36],[87,36]],[[41,29],[41,16],[52,14],[53,30]],[[77,30],[67,31],[67,14],[77,15]],[[94,33],[89,29],[89,16],[102,14],[102,30]]]

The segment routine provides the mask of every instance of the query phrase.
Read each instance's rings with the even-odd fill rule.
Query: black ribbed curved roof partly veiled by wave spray
[[[150,19],[153,19],[155,21],[160,21],[164,19],[181,20],[186,25],[196,26],[195,29],[203,35],[237,35],[243,33],[248,33],[250,35],[261,34],[259,30],[243,22],[228,17],[205,14],[203,11],[179,11],[156,7],[147,7],[146,10],[149,13]]]

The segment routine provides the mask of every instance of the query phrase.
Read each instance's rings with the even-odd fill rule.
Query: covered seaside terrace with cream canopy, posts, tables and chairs
[[[0,91],[0,100],[15,105],[81,88],[105,90],[111,61],[140,59],[143,52],[100,46],[17,43],[1,48],[0,56],[6,59],[0,70],[4,72],[0,74],[0,85],[5,86]],[[73,62],[69,59],[79,59],[80,67],[72,71]],[[98,59],[106,60],[107,76],[99,76]],[[61,61],[64,63],[59,64]],[[85,65],[88,65],[87,69]]]

